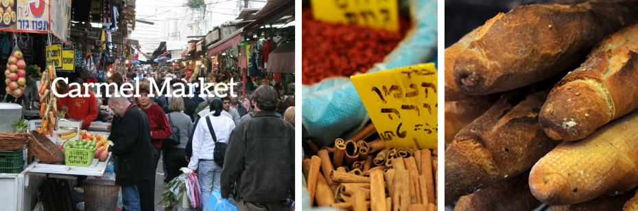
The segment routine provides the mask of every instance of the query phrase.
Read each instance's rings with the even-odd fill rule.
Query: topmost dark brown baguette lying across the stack
[[[592,44],[638,19],[638,1],[522,5],[488,20],[454,64],[465,94],[504,92],[582,61]]]

